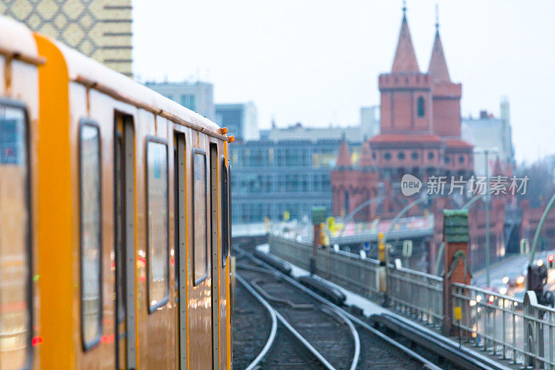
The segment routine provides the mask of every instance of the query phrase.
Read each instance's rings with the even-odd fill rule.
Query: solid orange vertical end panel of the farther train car
[[[74,214],[69,137],[69,77],[60,50],[45,37],[35,35],[40,55],[40,125],[38,134],[38,255],[40,366],[76,367],[74,353]]]

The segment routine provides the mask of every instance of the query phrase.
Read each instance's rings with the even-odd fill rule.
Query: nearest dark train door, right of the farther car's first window
[[[136,369],[133,117],[116,114],[114,126],[115,358],[117,369]]]

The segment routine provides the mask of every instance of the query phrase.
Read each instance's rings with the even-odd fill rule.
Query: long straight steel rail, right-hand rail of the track
[[[423,358],[421,355],[418,355],[418,353],[416,353],[415,351],[412,351],[410,348],[407,348],[406,346],[403,346],[402,344],[400,344],[399,342],[397,342],[395,339],[392,339],[390,337],[388,337],[387,335],[385,335],[384,333],[380,332],[379,330],[376,330],[375,328],[372,328],[371,326],[369,326],[367,323],[365,323],[364,321],[362,321],[361,319],[353,316],[352,314],[350,314],[349,312],[343,310],[343,308],[340,308],[339,306],[335,305],[334,303],[328,301],[326,298],[323,298],[323,296],[320,296],[314,292],[311,291],[311,289],[308,289],[307,287],[301,285],[300,283],[298,283],[296,280],[290,278],[289,276],[286,276],[285,274],[282,274],[280,271],[274,269],[273,267],[271,267],[269,264],[266,264],[266,262],[259,260],[258,258],[255,258],[255,256],[253,256],[250,253],[246,253],[246,256],[248,258],[250,258],[250,260],[253,260],[255,262],[260,262],[263,265],[265,265],[268,269],[271,269],[272,271],[275,271],[276,273],[280,274],[281,277],[286,280],[288,283],[291,283],[292,285],[294,285],[295,287],[298,287],[299,289],[301,289],[302,291],[306,292],[307,294],[309,294],[310,296],[316,298],[318,301],[321,301],[322,303],[327,303],[327,305],[330,305],[334,308],[336,308],[336,310],[339,310],[339,312],[343,313],[345,315],[345,317],[348,317],[350,320],[354,321],[355,323],[357,323],[357,325],[361,326],[362,328],[370,331],[370,333],[373,333],[375,335],[377,335],[377,337],[384,339],[384,341],[388,342],[388,344],[391,344],[392,346],[395,346],[396,348],[398,348],[400,351],[402,351],[403,353],[409,355],[409,357],[419,361],[422,363],[422,365],[425,365],[427,367],[427,369],[431,369],[431,370],[441,370],[441,367],[438,367],[436,364],[434,364],[433,362],[430,362],[429,360]]]

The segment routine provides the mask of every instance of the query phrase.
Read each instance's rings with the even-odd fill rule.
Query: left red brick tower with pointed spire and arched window
[[[443,142],[434,133],[434,83],[421,73],[405,8],[391,72],[379,76],[381,133],[370,139],[376,165],[398,182],[404,174],[422,180],[443,167]]]

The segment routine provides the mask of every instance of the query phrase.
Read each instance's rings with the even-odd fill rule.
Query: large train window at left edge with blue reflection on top
[[[31,243],[27,119],[0,104],[0,368],[26,367],[31,354]]]

